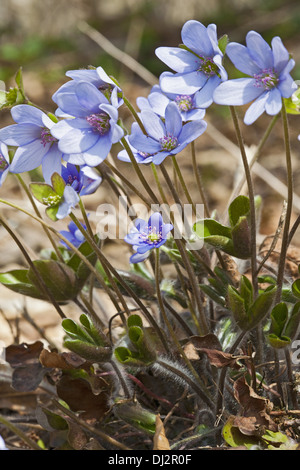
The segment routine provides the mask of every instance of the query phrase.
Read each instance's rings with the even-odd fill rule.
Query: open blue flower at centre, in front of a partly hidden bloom
[[[159,165],[168,155],[176,155],[189,143],[205,131],[207,124],[203,120],[183,124],[180,111],[174,102],[165,110],[164,121],[151,109],[140,113],[142,123],[148,135],[145,135],[137,123],[132,124],[128,142],[147,162]]]

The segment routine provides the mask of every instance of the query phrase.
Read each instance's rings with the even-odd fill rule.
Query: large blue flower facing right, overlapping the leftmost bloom
[[[112,144],[123,137],[117,124],[118,110],[92,83],[76,80],[72,93],[56,97],[59,108],[70,119],[59,121],[51,129],[58,139],[64,159],[75,165],[99,165],[108,155]]]

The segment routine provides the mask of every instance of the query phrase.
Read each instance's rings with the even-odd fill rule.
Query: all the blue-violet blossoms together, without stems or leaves
[[[120,107],[126,104],[122,89],[102,67],[68,71],[70,80],[52,97],[57,106],[54,115],[28,102],[13,106],[15,124],[0,129],[0,185],[9,172],[23,173],[41,166],[45,184],[52,187],[41,200],[55,208],[48,215],[61,219],[81,196],[96,191],[102,181],[97,167],[114,144],[123,146],[117,154],[119,160],[131,162],[133,157],[139,164],[160,165],[205,132],[203,119],[213,103],[241,106],[252,102],[244,118],[249,125],[264,112],[278,114],[283,99],[297,89],[290,75],[295,62],[279,37],[269,46],[260,34],[250,31],[245,46],[228,43],[226,38],[225,42],[218,39],[215,24],[206,27],[190,20],[182,27],[181,39],[178,47],[156,49],[156,56],[171,71],[160,75],[147,97],[137,98],[135,117],[139,119],[130,133],[124,131],[119,116]],[[225,55],[242,77],[228,78]],[[35,189],[40,197],[41,191]],[[135,231],[126,238],[137,249],[132,262],[165,241],[165,230],[170,227],[164,228],[153,217],[151,229],[138,220]]]

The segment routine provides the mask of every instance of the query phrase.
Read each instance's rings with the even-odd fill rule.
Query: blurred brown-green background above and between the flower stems
[[[219,37],[228,34],[229,40],[241,43],[244,43],[245,35],[251,29],[261,33],[268,42],[274,36],[280,36],[297,64],[292,75],[295,80],[300,80],[299,0],[0,0],[0,80],[6,89],[14,87],[16,72],[22,67],[28,98],[45,110],[54,112],[51,97],[67,80],[67,70],[89,65],[102,66],[109,75],[118,79],[127,97],[135,104],[136,97],[146,96],[156,77],[168,70],[156,58],[156,47],[177,46],[181,42],[181,28],[190,19],[205,25],[215,23]],[[124,52],[145,69],[138,71],[135,66],[129,68],[127,58],[122,56]],[[230,76],[237,76],[231,64],[227,63],[227,66]],[[271,118],[263,115],[254,125],[247,127],[242,123],[245,109],[240,107],[237,111],[241,117],[247,152],[251,155],[252,146],[258,144]],[[131,116],[126,109],[121,112],[125,125],[130,129]],[[209,206],[222,216],[243,169],[227,107],[212,105],[207,111],[206,120],[208,130],[197,141],[197,159]],[[2,110],[0,127],[11,123],[10,112]],[[300,213],[300,143],[297,140],[300,115],[290,117],[290,131],[295,184],[294,221]],[[131,166],[116,159],[118,150],[118,146],[113,149],[112,158],[132,180]],[[189,152],[186,157],[185,154],[181,155],[178,162],[195,201],[201,202]],[[253,167],[253,178],[255,192],[263,198],[259,239],[262,242],[264,237],[275,233],[286,197],[280,119],[258,164],[260,166]],[[143,167],[143,171],[149,180],[153,177],[151,168]],[[24,175],[25,181],[41,178],[37,171],[27,176]],[[135,183],[138,186],[139,182]],[[32,210],[13,175],[9,175],[0,188],[0,197]],[[91,220],[95,214],[93,211],[102,202],[116,203],[105,183],[87,201]],[[43,238],[36,223],[27,216],[3,205],[1,211],[23,237],[29,252],[39,253],[40,249],[49,246],[49,241]],[[58,230],[65,229],[65,221],[55,224]],[[0,240],[0,270],[23,265],[24,259],[19,249],[2,227]],[[299,234],[294,242],[299,246]],[[128,269],[130,249],[125,245],[120,240],[107,243],[105,249],[116,267]],[[296,269],[300,262],[299,250],[294,253],[294,258],[296,262],[293,266]],[[1,324],[0,315],[0,341],[8,342],[18,335],[21,339],[38,338],[40,332],[36,333],[36,328],[30,326],[28,317],[24,320],[28,300],[14,295],[3,286],[0,286],[0,299],[0,314],[5,318]],[[49,315],[50,306],[31,301],[29,313],[50,336],[61,336],[56,314]]]

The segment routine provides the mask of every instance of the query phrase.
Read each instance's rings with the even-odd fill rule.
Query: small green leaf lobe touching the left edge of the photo
[[[6,273],[0,273],[0,282],[8,289],[18,294],[42,299],[40,291],[28,279],[28,269],[14,269]]]

